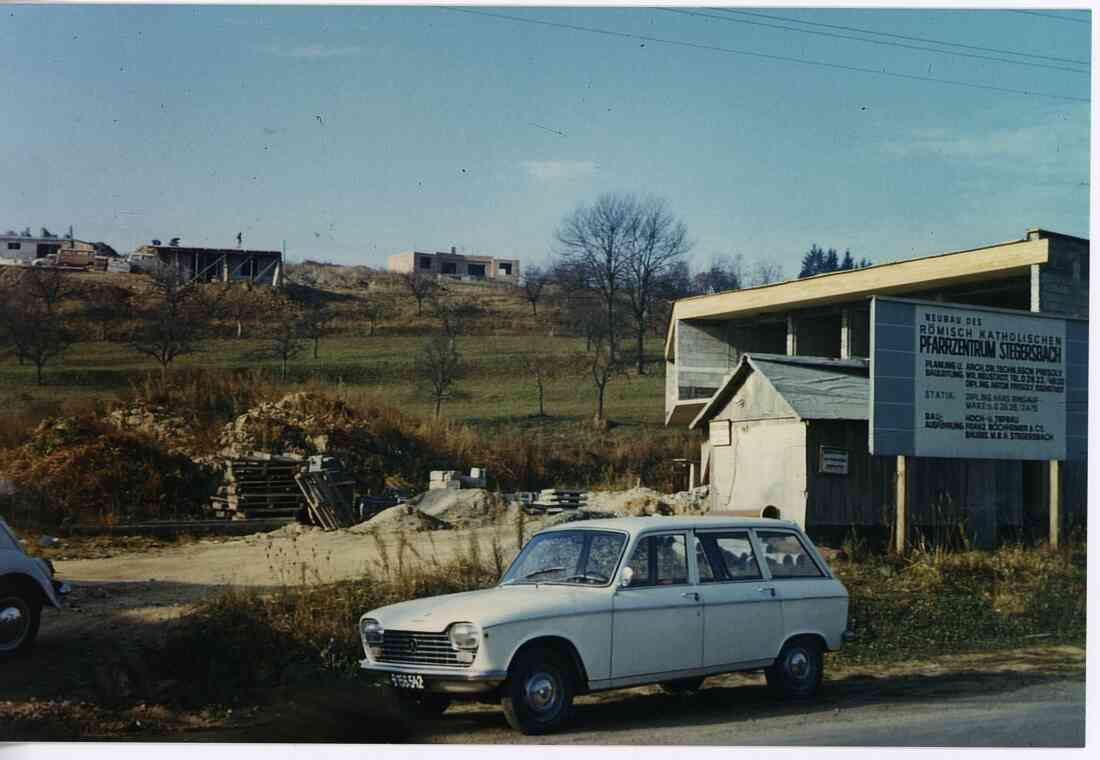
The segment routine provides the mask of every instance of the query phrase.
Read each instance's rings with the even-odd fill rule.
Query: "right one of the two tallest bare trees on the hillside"
[[[637,338],[638,374],[646,373],[646,328],[661,287],[661,277],[691,250],[688,227],[672,216],[668,203],[649,198],[638,205],[626,257],[624,290],[630,304]]]

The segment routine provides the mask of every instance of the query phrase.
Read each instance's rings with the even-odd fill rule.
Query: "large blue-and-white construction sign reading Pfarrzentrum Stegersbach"
[[[872,454],[1084,459],[1088,321],[871,299]]]

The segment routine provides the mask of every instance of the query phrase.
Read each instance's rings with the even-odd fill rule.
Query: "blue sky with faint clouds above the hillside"
[[[1090,25],[1025,13],[757,10],[1090,57]],[[657,9],[497,11],[1078,99],[1090,90],[1074,71]],[[564,213],[622,190],[669,201],[696,266],[739,253],[787,275],[813,242],[880,262],[1030,227],[1089,232],[1088,102],[431,8],[0,12],[2,229],[73,224],[123,251],[176,235],[233,245],[242,231],[250,247],[285,240],[296,260],[382,266],[398,251],[457,245],[538,262]]]

